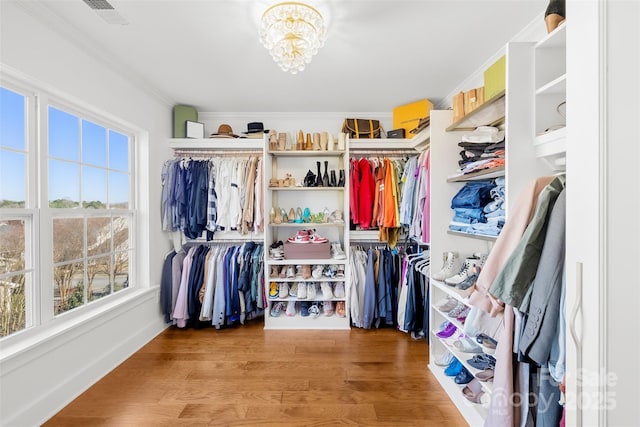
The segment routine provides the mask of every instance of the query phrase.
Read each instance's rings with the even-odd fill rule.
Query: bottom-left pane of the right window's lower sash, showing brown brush
[[[84,304],[84,266],[81,262],[53,269],[53,312],[64,313]]]

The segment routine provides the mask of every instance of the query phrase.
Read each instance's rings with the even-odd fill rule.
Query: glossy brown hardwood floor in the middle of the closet
[[[427,362],[392,328],[172,327],[44,425],[466,425]]]

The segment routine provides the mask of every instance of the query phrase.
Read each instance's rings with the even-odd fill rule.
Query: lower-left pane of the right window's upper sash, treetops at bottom
[[[49,207],[76,208],[80,205],[80,166],[49,160]]]

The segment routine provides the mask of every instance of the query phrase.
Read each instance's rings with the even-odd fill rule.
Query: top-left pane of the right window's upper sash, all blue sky
[[[78,118],[49,107],[49,156],[67,160],[80,159]]]

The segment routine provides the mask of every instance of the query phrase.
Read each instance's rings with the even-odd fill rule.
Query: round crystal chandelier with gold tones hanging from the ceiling
[[[325,38],[322,15],[304,3],[278,3],[262,14],[260,42],[280,68],[291,74],[304,70]]]

